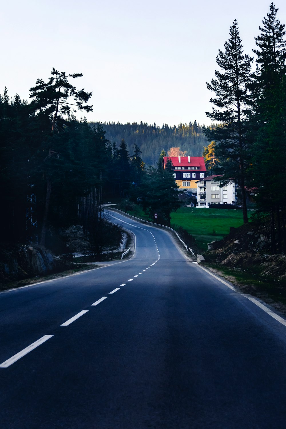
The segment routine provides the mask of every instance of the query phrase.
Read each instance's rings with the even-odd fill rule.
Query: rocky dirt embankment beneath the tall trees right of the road
[[[241,268],[265,281],[286,286],[286,255],[270,254],[271,236],[267,226],[249,223],[233,229],[223,240],[212,242],[207,262]]]

